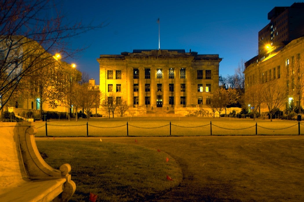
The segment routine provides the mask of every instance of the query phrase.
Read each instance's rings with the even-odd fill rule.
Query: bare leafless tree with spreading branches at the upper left
[[[75,53],[67,50],[66,39],[101,28],[101,25],[64,25],[63,15],[56,13],[56,16],[52,17],[46,12],[50,9],[57,11],[49,0],[5,0],[1,1],[0,5],[2,109],[24,76],[55,63],[56,61],[50,58],[53,58],[56,52],[60,52],[62,58]]]

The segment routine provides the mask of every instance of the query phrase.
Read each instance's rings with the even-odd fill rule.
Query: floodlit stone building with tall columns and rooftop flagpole
[[[100,55],[101,100],[114,93],[127,101],[126,115],[187,115],[208,106],[219,87],[219,55],[185,50],[133,50]]]

